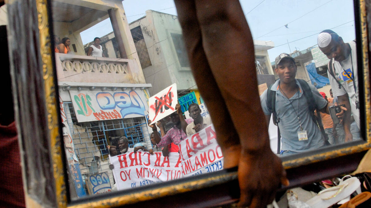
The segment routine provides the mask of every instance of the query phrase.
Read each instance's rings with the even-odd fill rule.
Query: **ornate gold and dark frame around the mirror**
[[[283,162],[283,165],[288,171],[288,177],[292,185],[299,185],[304,182],[310,182],[314,180],[318,180],[318,176],[309,176],[308,177],[308,170],[312,167],[311,165],[318,165],[324,161],[348,161],[349,165],[347,167],[343,167],[341,170],[337,172],[331,172],[327,175],[322,175],[322,177],[329,176],[329,175],[336,175],[344,172],[350,172],[357,167],[359,160],[361,159],[364,152],[371,148],[371,103],[370,103],[370,74],[369,74],[369,64],[368,64],[368,33],[367,33],[367,8],[366,4],[371,4],[371,0],[360,0],[358,2],[358,11],[359,11],[359,36],[357,38],[361,38],[361,53],[362,53],[362,66],[363,66],[363,77],[364,77],[364,103],[365,103],[365,138],[366,142],[362,144],[356,144],[351,147],[344,147],[344,148],[337,148],[329,152],[322,152],[315,155],[309,155],[308,157],[299,157],[293,160],[288,160]],[[224,203],[230,203],[236,201],[238,198],[238,191],[237,191],[237,172],[236,170],[223,170],[213,174],[203,175],[201,177],[190,177],[190,178],[183,178],[177,181],[165,182],[156,187],[147,187],[147,189],[134,189],[130,192],[117,192],[112,195],[101,195],[99,197],[87,197],[86,199],[79,199],[77,201],[70,202],[68,197],[68,192],[66,191],[66,172],[63,170],[64,167],[64,153],[63,147],[60,137],[60,128],[59,128],[59,103],[58,103],[58,90],[56,85],[56,71],[55,71],[55,64],[54,64],[54,54],[52,53],[52,46],[50,42],[50,37],[52,34],[52,29],[50,27],[50,1],[47,0],[30,0],[27,5],[23,5],[23,1],[21,0],[9,0],[8,4],[8,12],[9,12],[9,28],[10,32],[8,34],[13,34],[12,31],[17,30],[17,26],[15,26],[15,21],[17,18],[19,19],[21,15],[17,16],[17,13],[21,13],[21,11],[17,11],[18,8],[26,7],[26,9],[30,9],[30,16],[33,17],[35,20],[37,19],[37,30],[35,30],[35,36],[38,36],[39,48],[35,48],[35,52],[37,57],[37,67],[42,73],[39,74],[42,77],[43,86],[41,87],[45,100],[45,104],[40,104],[39,108],[42,106],[45,107],[45,118],[47,128],[42,129],[45,133],[44,138],[30,138],[30,140],[44,140],[49,144],[49,159],[50,159],[50,167],[45,167],[46,171],[44,171],[43,177],[48,178],[48,171],[52,176],[51,181],[54,184],[52,190],[48,193],[46,192],[45,195],[36,195],[34,194],[36,188],[30,187],[27,185],[27,181],[35,180],[30,175],[27,174],[26,167],[32,165],[33,161],[30,161],[29,158],[23,157],[23,172],[24,178],[26,178],[26,182],[24,182],[26,186],[26,193],[27,199],[32,201],[33,203],[45,206],[49,205],[51,207],[125,207],[127,205],[137,204],[139,205],[150,205],[156,203],[154,200],[158,198],[166,198],[170,199],[173,198],[175,200],[179,200],[179,203],[182,206],[187,205],[196,205],[197,203],[207,203],[207,204],[198,204],[200,206],[212,206],[212,205],[220,205]],[[34,10],[32,10],[34,9]],[[35,13],[33,13],[34,11]],[[357,11],[357,9],[356,9]],[[33,16],[32,16],[33,15]],[[24,16],[24,19],[28,19],[30,17]],[[22,19],[21,19],[22,20]],[[25,20],[23,20],[25,21]],[[370,21],[370,17],[368,19]],[[357,23],[357,21],[356,21]],[[12,26],[12,24],[14,24]],[[36,21],[35,23],[36,24]],[[32,29],[30,29],[32,30]],[[19,80],[14,74],[17,74],[18,71],[24,70],[22,67],[17,67],[17,63],[15,63],[17,54],[12,53],[14,52],[14,48],[12,50],[12,43],[16,42],[17,39],[9,38],[10,42],[10,63],[12,65],[12,80],[14,83],[13,88],[14,90],[14,100],[16,101],[16,116],[17,116],[17,123],[19,123],[19,135],[21,140],[21,147],[23,147],[22,151],[26,154],[32,154],[32,152],[28,152],[24,147],[27,147],[28,138],[25,134],[25,130],[22,128],[22,112],[18,112],[17,108],[22,109],[22,105],[25,101],[22,99],[17,98],[17,93],[20,93],[18,85],[27,84]],[[14,47],[14,46],[13,46]],[[22,54],[21,54],[22,55]],[[12,60],[12,58],[14,60]],[[37,75],[35,75],[37,77]],[[37,87],[36,87],[37,88]],[[37,88],[40,90],[40,88]],[[17,113],[18,112],[18,113]],[[44,119],[43,118],[43,119]],[[30,133],[30,132],[29,132]],[[47,141],[45,141],[47,140]],[[346,157],[345,157],[346,156]],[[330,163],[330,162],[329,162]],[[318,173],[326,172],[326,168],[322,168],[323,170],[316,170]],[[290,171],[295,170],[295,171]],[[306,170],[304,173],[300,170]],[[293,172],[302,172],[299,177]],[[25,173],[26,172],[26,173]],[[309,171],[310,172],[310,171]],[[290,175],[291,174],[291,175]],[[307,174],[307,175],[305,175]],[[310,175],[310,174],[309,174]],[[294,179],[295,178],[295,179]],[[292,180],[291,180],[292,179]],[[50,184],[44,184],[47,187]],[[37,188],[45,188],[45,187],[37,187]],[[215,189],[217,189],[219,194],[215,194]],[[203,193],[204,195],[200,195]],[[198,197],[189,199],[183,199],[186,195],[198,194]],[[48,199],[49,197],[49,199]],[[51,197],[51,198],[50,198]],[[194,197],[194,196],[193,196]],[[199,199],[201,198],[202,199]],[[169,200],[171,201],[171,200]],[[162,201],[161,204],[165,205],[166,201]],[[174,203],[174,201],[172,202]],[[35,205],[35,204],[34,204]]]

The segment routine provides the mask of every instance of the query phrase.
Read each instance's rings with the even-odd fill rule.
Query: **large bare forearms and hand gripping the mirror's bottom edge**
[[[280,159],[270,150],[267,124],[261,119],[253,40],[239,1],[175,0],[175,6],[191,69],[223,151],[224,168],[238,165],[238,205],[265,207],[280,182],[288,185],[288,180]],[[251,126],[246,126],[247,119]]]

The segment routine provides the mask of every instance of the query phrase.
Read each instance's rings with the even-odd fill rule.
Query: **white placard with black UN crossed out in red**
[[[178,103],[177,84],[174,83],[148,99],[151,124],[172,114]]]

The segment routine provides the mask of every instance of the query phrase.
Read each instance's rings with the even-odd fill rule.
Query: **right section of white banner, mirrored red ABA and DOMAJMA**
[[[184,177],[223,169],[223,154],[213,124],[180,142],[179,150]]]

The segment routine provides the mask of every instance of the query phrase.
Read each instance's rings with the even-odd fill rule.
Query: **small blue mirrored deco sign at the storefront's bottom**
[[[86,184],[88,184],[89,192],[91,195],[112,191],[111,182],[109,182],[107,172],[89,175],[86,180]]]

